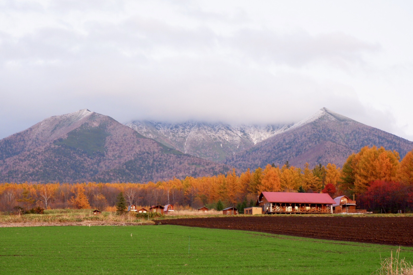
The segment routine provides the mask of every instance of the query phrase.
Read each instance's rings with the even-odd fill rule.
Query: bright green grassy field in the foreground
[[[375,271],[391,250],[176,225],[15,227],[0,228],[0,273],[354,275]],[[413,248],[401,256],[413,261]]]

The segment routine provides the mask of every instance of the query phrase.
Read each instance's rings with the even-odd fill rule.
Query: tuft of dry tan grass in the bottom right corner
[[[393,251],[390,253],[390,258],[386,258],[381,262],[381,267],[373,274],[375,275],[413,275],[413,266],[406,262],[405,258],[400,259],[400,247],[396,251],[396,256],[393,257]]]

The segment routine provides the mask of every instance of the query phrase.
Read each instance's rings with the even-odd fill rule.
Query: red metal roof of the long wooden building
[[[323,193],[288,193],[262,192],[268,202],[296,202],[302,204],[334,204],[329,194]]]

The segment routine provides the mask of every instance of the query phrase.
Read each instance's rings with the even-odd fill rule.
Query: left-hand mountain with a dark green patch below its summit
[[[2,182],[146,182],[226,171],[87,109],[0,140]]]

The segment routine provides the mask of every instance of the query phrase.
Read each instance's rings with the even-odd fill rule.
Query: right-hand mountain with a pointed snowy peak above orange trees
[[[306,162],[311,167],[329,162],[342,166],[351,153],[373,145],[396,150],[401,157],[413,149],[409,140],[322,108],[283,133],[229,157],[225,163],[240,169],[282,165],[285,161],[298,167]]]

